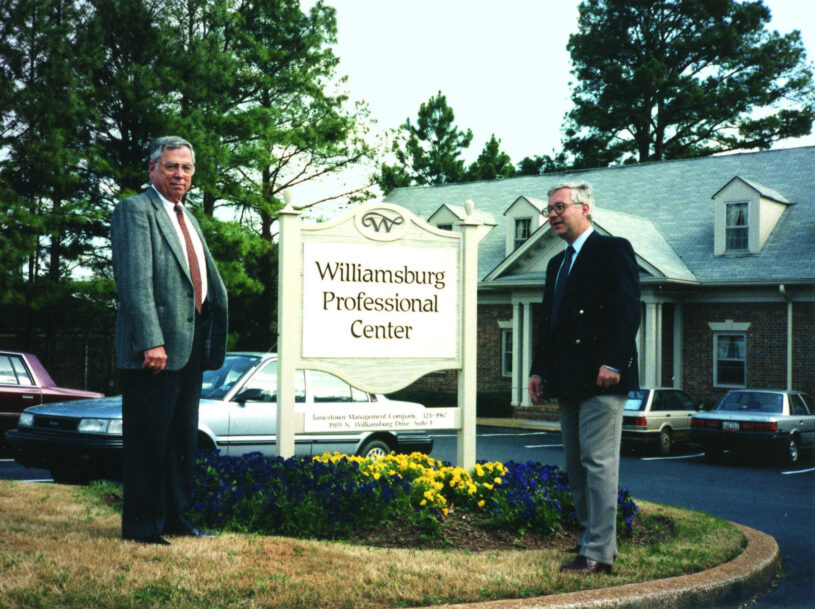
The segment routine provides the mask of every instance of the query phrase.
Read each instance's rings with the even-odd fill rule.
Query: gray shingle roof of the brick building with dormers
[[[764,196],[793,205],[784,211],[758,254],[714,256],[712,197],[735,177]],[[634,217],[626,229],[613,216],[605,219],[608,226],[603,227],[602,215],[598,215],[599,227],[629,236],[635,221],[638,222],[643,233],[635,239],[629,236],[635,251],[645,259],[661,256],[661,264],[674,272],[680,272],[684,265],[701,283],[815,280],[815,146],[490,182],[399,188],[386,200],[423,218],[428,218],[443,202],[463,205],[467,199],[475,202],[476,209],[491,213],[498,225],[479,248],[479,278],[483,278],[505,258],[504,210],[521,195],[545,200],[550,186],[571,180],[585,180],[594,187],[598,211]],[[620,232],[615,232],[615,228]],[[669,250],[660,245],[659,236]],[[676,260],[668,259],[671,251]]]

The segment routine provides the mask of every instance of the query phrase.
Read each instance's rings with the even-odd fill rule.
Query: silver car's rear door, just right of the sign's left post
[[[310,401],[306,408],[316,415],[331,415],[364,409],[370,404],[370,396],[364,391],[351,387],[342,379],[320,370],[309,370]],[[324,452],[354,454],[362,440],[361,432],[312,434],[311,454]]]

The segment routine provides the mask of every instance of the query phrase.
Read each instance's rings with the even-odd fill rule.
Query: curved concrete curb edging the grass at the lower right
[[[769,588],[772,579],[781,568],[781,555],[778,551],[778,544],[769,535],[740,524],[735,526],[747,538],[747,547],[730,562],[700,573],[537,598],[444,605],[444,607],[451,609],[695,609],[737,604]]]

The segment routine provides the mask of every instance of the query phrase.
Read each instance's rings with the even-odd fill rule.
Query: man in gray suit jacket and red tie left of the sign
[[[227,295],[184,195],[192,145],[150,147],[151,186],[111,219],[119,298],[116,358],[122,386],[122,537],[167,545],[163,533],[208,536],[185,518],[195,477],[204,370],[224,361]]]

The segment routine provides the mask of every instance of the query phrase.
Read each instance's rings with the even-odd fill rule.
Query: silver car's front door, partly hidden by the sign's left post
[[[295,402],[305,402],[306,384],[302,370],[296,372]],[[277,361],[258,367],[229,402],[229,435],[226,454],[261,452],[277,455]],[[295,456],[309,456],[309,442],[295,437]]]

